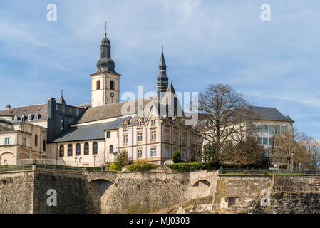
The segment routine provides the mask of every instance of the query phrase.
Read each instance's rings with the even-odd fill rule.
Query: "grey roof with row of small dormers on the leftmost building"
[[[14,117],[15,115],[20,118],[22,115],[27,117],[29,114],[35,115],[38,113],[38,120],[48,120],[48,103],[41,104],[41,105],[28,105],[22,106],[17,108],[9,108],[5,110],[0,110],[0,117],[1,116],[11,116]]]

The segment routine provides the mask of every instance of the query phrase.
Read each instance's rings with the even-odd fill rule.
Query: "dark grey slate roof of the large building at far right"
[[[289,115],[282,115],[277,108],[267,107],[252,107],[252,114],[254,120],[277,120],[294,123]]]

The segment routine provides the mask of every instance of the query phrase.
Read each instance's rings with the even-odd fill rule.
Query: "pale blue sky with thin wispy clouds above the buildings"
[[[260,20],[262,4],[271,21]],[[47,21],[56,4],[57,21]],[[320,1],[1,1],[0,108],[88,103],[103,22],[120,92],[156,88],[161,44],[178,91],[228,83],[320,140]]]

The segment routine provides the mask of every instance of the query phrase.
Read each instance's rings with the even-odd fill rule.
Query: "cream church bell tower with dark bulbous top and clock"
[[[111,46],[105,26],[104,38],[100,45],[100,59],[97,71],[91,74],[91,107],[118,103],[120,100],[120,74],[115,72],[111,59]]]

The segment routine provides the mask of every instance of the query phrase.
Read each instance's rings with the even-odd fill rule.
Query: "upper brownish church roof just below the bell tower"
[[[156,97],[156,96],[155,96]],[[138,111],[138,101],[143,100],[143,107],[144,108],[151,108],[151,107],[146,107],[148,103],[152,105],[153,103],[153,98],[155,97],[148,97],[148,98],[141,98],[139,100],[128,100],[125,102],[120,102],[120,103],[112,103],[108,105],[102,105],[98,107],[91,107],[86,110],[85,113],[81,116],[81,118],[78,120],[78,123],[88,123],[96,120],[104,120],[108,118],[120,118],[123,116],[123,113],[121,112],[123,105],[126,105],[126,107],[129,107],[130,105],[133,106],[135,105],[134,110],[128,111],[128,113],[125,113],[126,115],[132,115],[137,113]],[[158,99],[158,98],[157,98]]]

